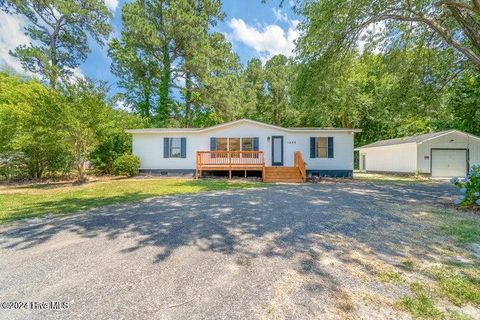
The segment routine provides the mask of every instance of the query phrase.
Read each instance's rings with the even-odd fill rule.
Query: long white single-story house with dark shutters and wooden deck
[[[359,129],[284,128],[249,119],[208,128],[126,130],[142,171],[162,174],[256,170],[264,181],[305,181],[307,175],[352,177]]]

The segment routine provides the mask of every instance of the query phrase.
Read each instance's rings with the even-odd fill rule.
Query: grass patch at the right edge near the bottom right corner
[[[430,270],[445,296],[453,304],[480,306],[480,269],[435,267]]]

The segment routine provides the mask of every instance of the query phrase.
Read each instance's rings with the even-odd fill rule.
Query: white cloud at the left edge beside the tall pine
[[[0,65],[22,73],[24,72],[22,65],[17,58],[10,55],[9,50],[14,50],[18,45],[30,42],[23,32],[26,24],[27,21],[24,17],[0,11]]]

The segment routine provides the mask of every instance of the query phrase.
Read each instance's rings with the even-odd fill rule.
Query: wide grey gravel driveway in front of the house
[[[0,227],[0,319],[408,318],[379,281],[436,259],[448,184],[337,181],[182,195]]]

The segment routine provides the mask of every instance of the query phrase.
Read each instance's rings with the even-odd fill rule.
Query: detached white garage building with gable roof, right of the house
[[[446,130],[382,140],[355,149],[360,171],[420,173],[432,177],[462,177],[480,164],[480,138]]]

